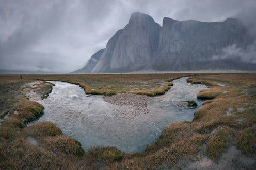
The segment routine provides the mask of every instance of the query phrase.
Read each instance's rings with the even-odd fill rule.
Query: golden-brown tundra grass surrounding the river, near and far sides
[[[24,76],[23,81],[44,79],[72,82],[82,87],[84,85],[85,91],[90,89],[105,95],[116,92],[151,95],[159,90],[159,93],[152,95],[154,96],[160,95],[161,91],[169,88],[171,80],[184,75],[49,75],[44,77],[34,75]],[[207,100],[195,112],[193,122],[177,122],[167,126],[155,143],[148,145],[144,152],[134,154],[121,153],[114,147],[92,148],[84,153],[78,141],[63,136],[61,130],[50,122],[26,127],[30,119],[19,116],[20,111],[15,115],[14,110],[20,108],[36,117],[36,115],[40,116],[41,107],[21,97],[14,102],[14,107],[17,108],[13,109],[13,113],[10,113],[8,118],[2,119],[0,168],[180,168],[182,167],[180,162],[183,160],[195,161],[202,156],[218,161],[231,146],[255,158],[256,75],[199,74],[188,81],[211,86],[210,89],[199,92],[198,98]],[[19,102],[24,103],[19,104]],[[253,166],[255,164],[249,168]]]

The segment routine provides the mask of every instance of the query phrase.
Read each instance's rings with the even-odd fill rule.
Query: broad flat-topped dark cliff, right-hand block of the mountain
[[[177,21],[165,17],[155,51],[156,70],[235,69],[234,59],[212,60],[223,47],[236,44],[245,48],[252,43],[247,30],[235,18],[224,22]],[[230,59],[231,60],[231,59]]]

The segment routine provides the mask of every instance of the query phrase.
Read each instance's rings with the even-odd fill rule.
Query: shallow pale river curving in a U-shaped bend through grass
[[[115,146],[125,153],[139,152],[155,142],[170,123],[193,120],[194,112],[203,102],[197,100],[197,93],[207,86],[192,85],[186,79],[172,81],[173,87],[165,95],[148,101],[147,114],[136,116],[118,111],[129,106],[110,104],[102,96],[86,95],[78,85],[49,81],[55,86],[47,99],[37,101],[45,109],[35,122],[56,123],[63,134],[81,142],[85,150]],[[198,107],[188,108],[184,100],[194,100]]]

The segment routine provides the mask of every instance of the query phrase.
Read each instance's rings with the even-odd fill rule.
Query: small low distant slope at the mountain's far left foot
[[[93,54],[91,56],[90,60],[86,63],[86,65],[83,68],[76,70],[74,72],[71,72],[71,73],[73,73],[73,74],[91,73],[94,66],[99,62],[104,50],[105,50],[105,48],[101,49],[100,51]]]

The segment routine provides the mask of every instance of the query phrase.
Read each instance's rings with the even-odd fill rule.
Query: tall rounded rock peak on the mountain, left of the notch
[[[109,40],[102,60],[92,72],[124,72],[147,67],[158,47],[160,28],[149,15],[133,13],[124,29],[113,36],[115,41]],[[110,55],[107,62],[103,60]]]

